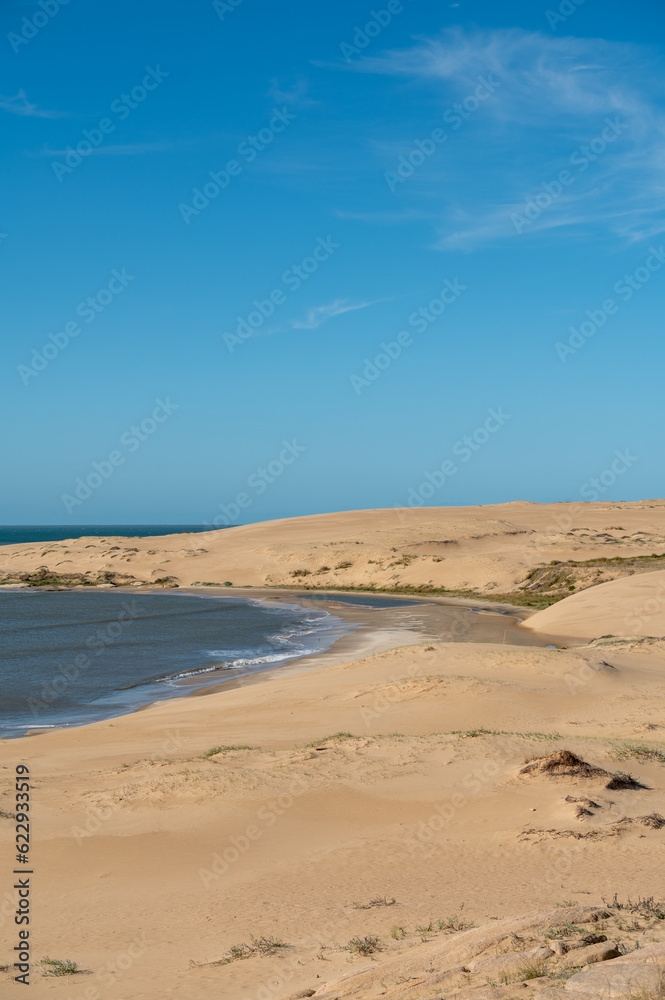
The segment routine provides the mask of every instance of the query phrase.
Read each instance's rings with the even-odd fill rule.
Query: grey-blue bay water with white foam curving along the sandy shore
[[[0,736],[121,715],[328,649],[350,628],[247,598],[0,592]]]

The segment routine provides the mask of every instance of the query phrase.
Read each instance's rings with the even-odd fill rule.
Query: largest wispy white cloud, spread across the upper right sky
[[[442,113],[473,94],[479,76],[500,81],[476,119],[459,135],[449,130],[445,153],[397,189],[403,208],[429,213],[436,247],[471,250],[514,239],[511,216],[570,166],[571,154],[607,118],[628,127],[588,169],[574,171],[571,190],[524,232],[578,238],[602,231],[634,241],[665,231],[663,66],[655,50],[517,28],[451,29],[356,60],[353,69],[405,78],[433,93]],[[393,169],[397,150],[408,151],[413,139],[410,123],[401,148],[393,134],[374,141],[374,153]]]

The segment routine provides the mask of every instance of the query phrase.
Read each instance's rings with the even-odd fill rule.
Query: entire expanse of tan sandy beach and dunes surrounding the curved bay
[[[228,577],[271,599],[279,592],[259,589],[266,577],[293,581],[294,565],[313,572],[324,546],[330,562],[363,550],[338,571],[340,586],[366,581],[367,556],[396,548],[399,561],[407,546],[425,546],[392,567],[400,585],[431,578],[479,595],[515,593],[552,560],[626,560],[608,563],[614,577],[598,586],[580,573],[570,596],[535,612],[441,595],[386,610],[344,605],[341,594],[311,599],[356,626],[319,657],[3,741],[6,857],[17,763],[29,763],[34,786],[34,957],[82,970],[37,977],[32,995],[508,997],[515,986],[460,971],[469,956],[515,952],[505,945],[515,934],[525,949],[544,947],[553,908],[572,926],[591,920],[580,908],[602,907],[603,897],[665,895],[665,830],[645,821],[665,814],[665,573],[629,562],[659,551],[665,503],[564,508],[418,510],[405,524],[392,511],[352,512],[187,540],[0,551],[4,572],[97,573],[122,559],[145,582],[166,556],[183,586]],[[571,527],[548,533],[562,517]],[[195,544],[208,551],[189,555]],[[432,555],[435,545],[445,556]],[[390,578],[382,572],[377,587]],[[291,582],[283,598],[297,593]],[[523,771],[559,751],[591,770]],[[618,772],[633,784],[610,787]],[[15,900],[6,885],[8,966]],[[534,913],[527,934],[519,920]],[[648,945],[660,940],[656,924],[628,931],[615,921],[612,933]],[[357,953],[354,938],[376,938],[376,950]],[[444,994],[428,975],[447,968],[445,948],[458,951]],[[22,995],[8,970],[0,976],[7,996]],[[545,986],[552,981],[528,988]]]

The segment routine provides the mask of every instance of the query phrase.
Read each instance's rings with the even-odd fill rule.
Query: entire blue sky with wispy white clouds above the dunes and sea
[[[0,21],[0,522],[663,495],[660,2]]]

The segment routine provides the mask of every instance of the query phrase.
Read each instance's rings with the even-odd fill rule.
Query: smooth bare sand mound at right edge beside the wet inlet
[[[521,627],[585,641],[602,635],[665,636],[665,571],[602,583],[537,612]]]

